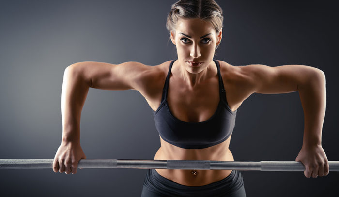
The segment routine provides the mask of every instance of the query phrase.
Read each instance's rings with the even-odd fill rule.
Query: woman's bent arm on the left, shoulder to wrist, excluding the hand
[[[79,140],[81,110],[89,88],[145,91],[149,67],[133,61],[117,65],[84,61],[68,66],[62,83],[62,139]]]

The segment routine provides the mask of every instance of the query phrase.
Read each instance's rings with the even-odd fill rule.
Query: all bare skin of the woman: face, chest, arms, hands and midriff
[[[189,35],[188,38],[185,35]],[[201,36],[209,34],[205,38]],[[219,102],[218,76],[213,61],[222,30],[200,19],[181,19],[171,40],[178,60],[173,63],[167,102],[171,113],[182,121],[208,120]],[[187,61],[203,62],[191,67]],[[104,90],[136,90],[155,111],[161,102],[162,89],[171,61],[155,66],[139,62],[110,64],[78,62],[65,69],[62,84],[62,142],[53,162],[54,172],[77,173],[78,161],[86,158],[80,146],[80,116],[90,87]],[[232,66],[219,61],[226,99],[232,111],[253,93],[288,93],[299,91],[304,109],[303,146],[295,161],[301,161],[306,177],[316,178],[329,172],[328,160],[321,145],[326,106],[325,76],[321,70],[305,65],[270,67],[261,64]],[[300,75],[302,74],[302,75]],[[208,96],[206,96],[208,95]],[[200,107],[196,107],[200,106]],[[160,137],[161,147],[154,159],[234,161],[229,150],[231,136],[205,149],[183,149]],[[188,186],[206,185],[227,177],[231,170],[156,170],[161,176]]]

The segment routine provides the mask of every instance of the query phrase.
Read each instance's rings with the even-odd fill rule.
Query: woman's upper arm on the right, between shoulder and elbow
[[[305,65],[248,65],[247,74],[252,90],[256,93],[277,94],[298,91],[303,86],[319,79],[324,74],[321,70]]]

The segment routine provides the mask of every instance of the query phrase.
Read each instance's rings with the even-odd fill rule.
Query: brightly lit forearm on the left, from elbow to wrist
[[[62,142],[80,142],[81,110],[85,103],[90,81],[78,64],[65,69],[61,93]]]

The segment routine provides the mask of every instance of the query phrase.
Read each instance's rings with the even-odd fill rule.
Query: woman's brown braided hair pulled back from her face
[[[222,9],[214,0],[179,0],[171,6],[167,16],[167,30],[175,32],[179,19],[200,18],[210,22],[216,34],[223,27]],[[219,45],[216,45],[216,49]],[[215,50],[216,50],[215,49]]]

